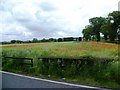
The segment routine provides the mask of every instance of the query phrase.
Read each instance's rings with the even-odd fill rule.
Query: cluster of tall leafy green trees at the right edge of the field
[[[84,40],[120,41],[120,11],[113,11],[107,17],[90,18],[89,23],[82,31]]]

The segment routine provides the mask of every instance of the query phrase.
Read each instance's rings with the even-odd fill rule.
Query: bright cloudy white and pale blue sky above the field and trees
[[[0,41],[80,37],[92,17],[107,17],[119,0],[0,0]]]

